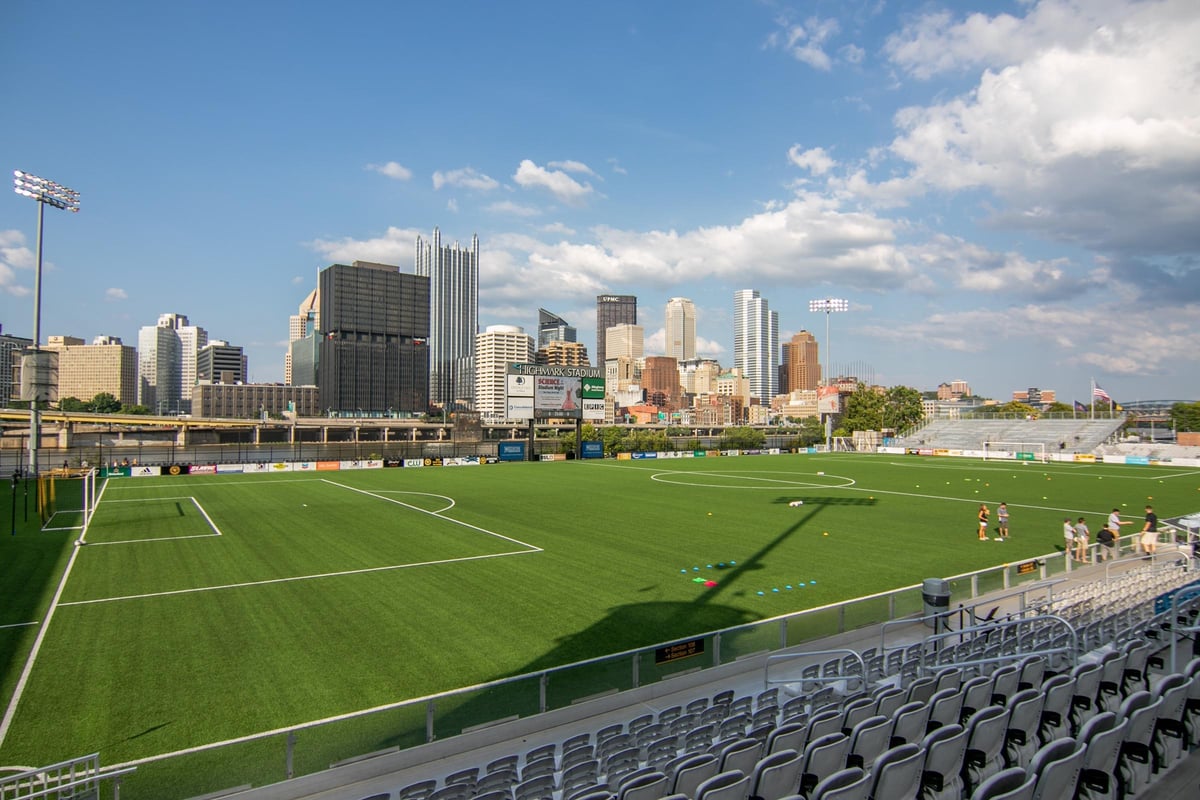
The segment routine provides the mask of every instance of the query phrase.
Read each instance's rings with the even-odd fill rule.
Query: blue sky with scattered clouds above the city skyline
[[[0,166],[47,211],[42,335],[160,313],[281,380],[317,271],[481,241],[480,324],[733,293],[876,381],[1200,397],[1200,4],[0,4]],[[36,206],[0,194],[0,324]]]

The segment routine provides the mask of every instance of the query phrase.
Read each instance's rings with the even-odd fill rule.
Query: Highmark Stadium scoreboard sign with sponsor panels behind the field
[[[604,420],[604,369],[510,363],[505,375],[510,420]]]

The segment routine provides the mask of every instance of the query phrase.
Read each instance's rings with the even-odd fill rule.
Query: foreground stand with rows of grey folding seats
[[[766,685],[740,678],[661,693],[482,747],[448,742],[228,795],[241,800],[968,800],[1195,798],[1200,597],[1160,559],[1079,569],[1052,600],[950,634],[881,646],[880,628]],[[979,607],[991,607],[982,599]],[[1069,626],[1069,627],[1067,627]],[[1064,632],[1066,631],[1066,632]],[[1074,634],[1072,634],[1074,631]],[[748,662],[754,661],[746,660]],[[868,674],[862,675],[863,664]],[[546,715],[552,721],[553,712]],[[414,748],[422,751],[425,748]],[[372,765],[371,760],[379,762]],[[368,772],[373,771],[373,775]]]

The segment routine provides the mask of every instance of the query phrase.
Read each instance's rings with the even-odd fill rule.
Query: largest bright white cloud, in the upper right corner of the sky
[[[1024,18],[922,18],[889,50],[904,68],[998,68],[968,94],[899,112],[883,180],[862,169],[830,178],[829,188],[880,205],[985,190],[996,224],[1098,252],[1195,252],[1196,41],[1200,4],[1181,0],[1048,0]]]

